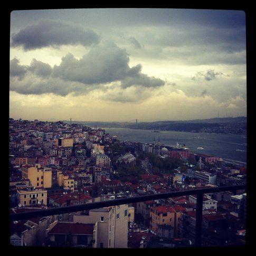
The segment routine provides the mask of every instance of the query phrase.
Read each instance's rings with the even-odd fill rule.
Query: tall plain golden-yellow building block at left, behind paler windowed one
[[[52,187],[52,169],[40,164],[22,166],[22,178],[27,178],[34,187]]]

